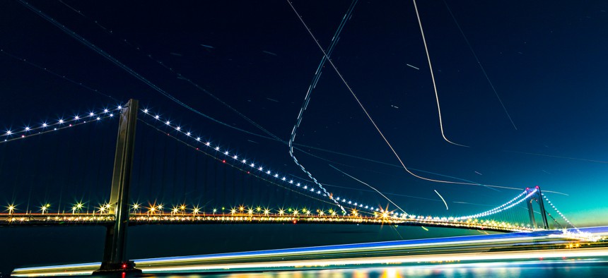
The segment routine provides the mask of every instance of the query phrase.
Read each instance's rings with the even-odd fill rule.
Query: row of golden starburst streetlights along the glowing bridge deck
[[[42,214],[21,213],[16,214],[16,207],[10,205],[9,214],[6,215],[8,222],[112,222],[114,214],[110,214],[112,206],[110,204],[99,205],[95,207],[93,212],[84,213],[83,203],[76,203],[72,206],[71,213],[50,213],[50,205],[41,207]],[[45,214],[46,212],[46,214]],[[200,221],[200,222],[353,222],[353,223],[387,223],[387,224],[404,224],[420,223],[438,226],[466,227],[471,229],[493,228],[505,231],[532,231],[533,228],[528,226],[520,226],[518,224],[510,224],[508,222],[498,222],[495,220],[479,220],[466,219],[459,220],[453,217],[423,217],[415,215],[403,215],[398,217],[390,212],[375,212],[373,216],[366,217],[359,213],[358,210],[352,209],[348,214],[339,215],[339,211],[329,209],[325,210],[309,210],[306,208],[279,208],[270,209],[268,207],[231,207],[226,209],[223,207],[221,212],[214,208],[211,212],[204,212],[201,207],[187,205],[173,206],[168,210],[164,205],[150,205],[144,207],[140,204],[130,206],[131,220],[137,222],[184,222],[184,221]],[[2,214],[0,214],[0,218]]]

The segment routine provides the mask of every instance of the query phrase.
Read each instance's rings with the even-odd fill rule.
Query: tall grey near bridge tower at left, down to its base
[[[126,259],[127,227],[129,226],[129,186],[135,147],[135,123],[137,121],[138,101],[129,99],[120,111],[118,139],[112,174],[112,191],[110,193],[110,214],[114,214],[115,223],[107,226],[103,261],[95,274],[114,272],[139,272],[135,263]]]

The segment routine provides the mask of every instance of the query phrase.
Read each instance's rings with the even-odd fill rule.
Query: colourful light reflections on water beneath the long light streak
[[[400,277],[608,277],[608,260],[494,262],[426,267],[370,267],[332,270],[146,275],[163,278],[400,278]]]

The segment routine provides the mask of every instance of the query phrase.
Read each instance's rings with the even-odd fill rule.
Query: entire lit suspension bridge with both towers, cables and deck
[[[547,229],[576,229],[568,219],[556,209],[555,205],[542,193],[538,186],[522,188],[514,198],[498,203],[491,210],[474,214],[451,216],[415,215],[404,211],[389,210],[388,207],[370,205],[354,201],[345,196],[325,193],[310,181],[287,178],[288,174],[274,171],[268,165],[253,159],[239,157],[230,152],[228,147],[211,143],[194,135],[185,128],[165,119],[160,114],[153,114],[148,109],[139,109],[138,102],[131,99],[126,105],[115,109],[91,111],[89,114],[76,115],[71,119],[59,119],[45,122],[40,126],[27,126],[18,130],[6,131],[2,144],[23,140],[35,135],[57,133],[64,129],[74,129],[87,123],[119,118],[112,187],[107,202],[90,207],[86,202],[76,202],[69,207],[54,208],[49,203],[40,207],[23,208],[14,203],[8,204],[0,213],[0,226],[73,226],[98,225],[106,226],[105,251],[101,272],[136,271],[134,263],[125,257],[125,241],[128,226],[147,224],[366,224],[390,226],[433,226],[451,229],[472,229],[498,232],[531,232]],[[214,166],[225,166],[224,169],[245,176],[240,185],[255,179],[266,186],[276,186],[296,196],[306,196],[314,200],[314,205],[271,207],[268,205],[238,205],[215,207],[187,205],[179,203],[164,205],[156,200],[147,205],[133,202],[129,198],[131,177],[133,176],[136,123],[141,121],[154,131],[160,131],[197,155],[210,159]],[[140,158],[140,164],[142,159]],[[163,161],[168,161],[163,157]],[[207,160],[205,160],[207,162]],[[205,171],[209,166],[205,163]],[[217,169],[217,168],[216,168]],[[141,170],[140,170],[141,171]],[[224,190],[226,190],[226,172],[224,172]],[[207,179],[204,175],[203,179]],[[139,183],[143,183],[141,176]],[[233,185],[237,183],[233,179]],[[177,183],[173,183],[177,186]],[[217,188],[216,188],[217,189]],[[30,191],[31,193],[31,191]],[[225,191],[226,193],[226,191]],[[233,192],[234,193],[234,192]],[[250,192],[251,193],[251,192]],[[206,195],[206,192],[201,193]],[[208,195],[208,194],[207,194]],[[250,194],[252,195],[252,194]],[[31,198],[31,195],[30,195]],[[508,199],[508,198],[505,198]],[[334,205],[338,203],[339,205]],[[327,207],[330,207],[327,209]],[[33,207],[33,206],[32,206]],[[217,208],[216,208],[217,207]],[[559,217],[553,217],[545,207]],[[525,219],[518,222],[509,221],[513,211],[524,212]],[[540,217],[538,217],[540,216]],[[557,218],[557,219],[556,219]],[[549,219],[552,221],[549,222]],[[559,220],[558,220],[559,219]],[[575,236],[571,233],[571,236]],[[580,235],[582,236],[582,235]]]

